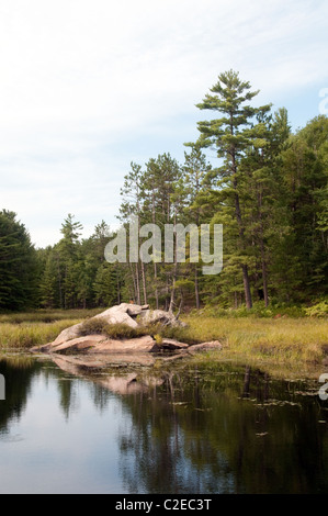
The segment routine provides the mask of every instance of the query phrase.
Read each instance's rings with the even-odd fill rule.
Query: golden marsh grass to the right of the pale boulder
[[[189,316],[184,321],[197,340],[219,340],[227,357],[321,362],[327,352],[327,318]]]

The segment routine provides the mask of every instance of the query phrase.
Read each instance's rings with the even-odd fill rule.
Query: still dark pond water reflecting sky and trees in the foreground
[[[121,385],[25,357],[0,373],[1,493],[328,493],[316,382],[183,363]]]

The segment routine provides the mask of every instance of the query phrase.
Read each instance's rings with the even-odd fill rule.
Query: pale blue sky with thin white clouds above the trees
[[[328,114],[327,48],[327,0],[1,0],[0,210],[36,247],[68,213],[115,228],[131,162],[182,164],[222,71],[293,131]]]

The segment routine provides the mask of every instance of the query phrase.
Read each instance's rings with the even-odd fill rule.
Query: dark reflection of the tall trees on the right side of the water
[[[327,489],[327,430],[299,382],[216,367],[127,396],[121,474],[128,492],[298,493]]]

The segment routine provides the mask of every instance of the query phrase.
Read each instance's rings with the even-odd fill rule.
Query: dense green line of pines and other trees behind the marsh
[[[229,70],[197,104],[208,119],[185,143],[184,162],[170,153],[132,162],[117,214],[128,232],[152,223],[223,224],[224,267],[204,274],[202,261],[163,257],[145,263],[110,263],[115,237],[102,221],[89,238],[68,214],[61,238],[31,245],[13,212],[0,213],[0,307],[75,309],[122,301],[166,310],[253,303],[310,303],[327,293],[328,119],[319,115],[295,133],[284,108],[253,106],[258,91]],[[212,117],[213,116],[213,117]],[[207,157],[208,152],[215,159]],[[165,235],[165,231],[161,232]],[[145,239],[145,238],[144,238]],[[128,256],[128,255],[127,255]]]

